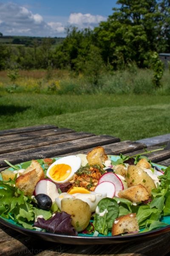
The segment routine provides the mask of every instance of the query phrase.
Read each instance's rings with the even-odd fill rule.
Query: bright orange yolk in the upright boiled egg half
[[[49,175],[51,176],[51,178],[53,178],[56,181],[65,180],[66,178],[68,178],[70,174],[71,166],[65,163],[54,165],[49,171]]]

